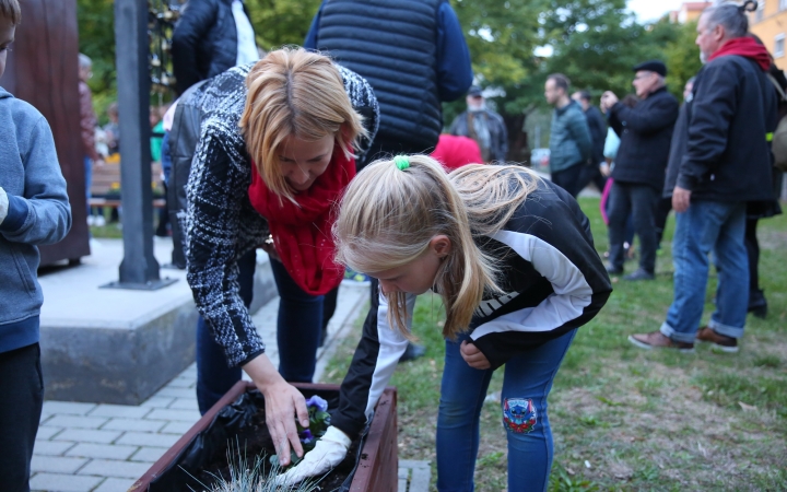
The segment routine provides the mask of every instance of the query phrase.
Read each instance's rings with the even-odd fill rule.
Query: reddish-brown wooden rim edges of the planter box
[[[309,383],[293,383],[293,386],[301,390],[307,391],[309,389],[338,391],[340,388],[339,385]],[[213,422],[215,415],[224,407],[234,403],[235,400],[240,397],[240,395],[255,388],[255,384],[250,382],[239,380],[235,383],[235,385],[230,388],[230,390],[219,401],[216,401],[216,403],[211,407],[211,409],[208,410],[208,412],[202,415],[202,418],[198,420],[197,423],[193,424],[191,429],[188,430],[188,432],[186,432],[186,434],[184,434],[169,449],[167,449],[166,453],[164,453],[164,455],[158,458],[158,460],[154,462],[153,466],[151,466],[150,469],[148,469],[148,471],[145,471],[145,473],[133,483],[133,485],[131,485],[128,492],[146,491],[151,482],[153,482],[153,480],[155,480],[162,472],[164,472],[169,467],[169,464],[173,461],[173,459],[175,459],[184,450],[184,448],[188,446],[191,441],[193,441],[197,434],[204,431],[211,424],[211,422]],[[377,409],[375,410],[375,419],[372,421],[372,426],[369,427],[368,436],[366,438],[366,443],[364,444],[364,449],[368,448],[372,452],[362,454],[357,469],[355,470],[355,477],[353,478],[350,488],[351,491],[371,490],[380,492],[392,492],[396,490],[399,462],[398,445],[396,440],[396,434],[398,433],[396,408],[397,390],[396,387],[389,386],[385,389],[385,391],[383,391],[383,395],[377,402]],[[392,419],[389,418],[391,413],[393,415]],[[392,423],[390,421],[392,421]],[[384,453],[379,453],[379,447],[381,444],[385,445],[385,443],[390,443],[389,437],[391,426],[393,432],[393,446],[388,447],[392,447],[392,452],[391,449],[384,449]],[[387,459],[391,461],[389,462],[390,466],[387,467],[392,468],[393,470],[390,478],[379,476],[379,467],[373,466],[375,464],[375,460],[378,459],[378,455],[380,456],[380,459]],[[369,488],[371,485],[376,484],[378,484],[379,488]]]

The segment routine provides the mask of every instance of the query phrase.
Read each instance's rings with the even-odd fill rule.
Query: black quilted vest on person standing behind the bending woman
[[[377,142],[437,144],[437,10],[446,0],[328,0],[317,48],[368,81],[380,106]]]

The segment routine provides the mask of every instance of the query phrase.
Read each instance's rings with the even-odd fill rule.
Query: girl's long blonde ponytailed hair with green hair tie
[[[376,161],[350,183],[333,225],[337,259],[357,271],[388,270],[423,255],[434,236],[448,236],[451,249],[434,285],[446,308],[443,335],[454,339],[484,292],[501,292],[495,259],[473,238],[503,227],[540,178],[519,166],[472,164],[446,174],[426,155],[409,162],[400,171],[393,161]],[[388,294],[391,326],[407,336],[404,301]]]

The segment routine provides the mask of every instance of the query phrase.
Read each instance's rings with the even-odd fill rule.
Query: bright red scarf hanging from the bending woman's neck
[[[312,295],[327,294],[344,278],[344,268],[333,261],[331,208],[354,176],[355,160],[346,159],[337,145],[326,172],[309,189],[294,196],[298,207],[268,189],[251,162],[251,206],[268,220],[284,268]]]

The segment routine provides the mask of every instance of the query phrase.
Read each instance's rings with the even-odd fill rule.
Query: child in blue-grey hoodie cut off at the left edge
[[[0,77],[22,20],[17,0],[0,0]],[[71,229],[71,207],[47,120],[0,87],[0,482],[30,491],[44,384],[36,279],[39,244]]]

